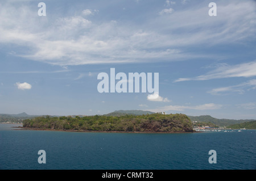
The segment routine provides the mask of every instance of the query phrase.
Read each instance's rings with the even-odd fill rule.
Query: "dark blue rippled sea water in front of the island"
[[[92,133],[15,130],[0,124],[0,169],[256,169],[256,130]],[[38,151],[46,151],[46,164]],[[217,163],[210,164],[209,150]]]

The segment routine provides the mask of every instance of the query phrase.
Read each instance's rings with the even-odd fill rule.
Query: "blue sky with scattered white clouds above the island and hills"
[[[256,119],[255,28],[250,0],[3,0],[0,113]],[[159,73],[159,92],[101,93],[111,68]]]

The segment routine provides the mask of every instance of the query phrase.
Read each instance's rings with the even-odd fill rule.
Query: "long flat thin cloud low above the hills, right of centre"
[[[164,106],[160,107],[154,110],[149,110],[152,112],[163,112],[163,111],[184,111],[184,110],[218,110],[222,108],[221,104],[214,104],[214,103],[209,103],[209,104],[201,104],[198,106]]]

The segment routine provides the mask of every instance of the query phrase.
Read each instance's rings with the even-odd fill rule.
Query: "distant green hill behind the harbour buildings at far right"
[[[249,121],[256,121],[256,120],[235,120],[235,119],[217,119],[209,115],[204,115],[204,116],[188,116],[191,121],[197,121],[197,122],[204,122],[204,123],[213,123],[219,127],[228,127],[229,125],[232,124],[240,124],[244,122],[249,122]]]

